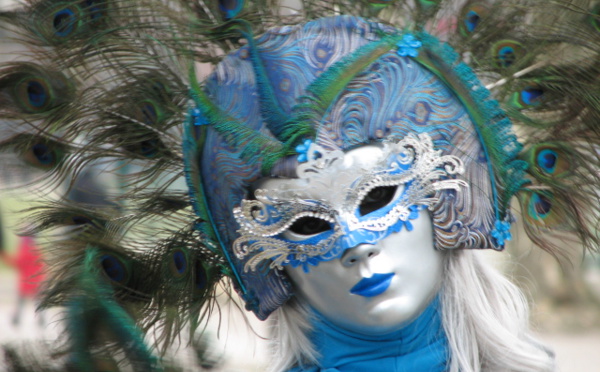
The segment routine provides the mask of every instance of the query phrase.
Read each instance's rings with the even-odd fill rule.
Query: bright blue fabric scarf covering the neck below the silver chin
[[[439,300],[399,331],[365,336],[343,330],[319,314],[311,341],[321,354],[320,367],[296,367],[289,372],[443,372],[449,359]]]

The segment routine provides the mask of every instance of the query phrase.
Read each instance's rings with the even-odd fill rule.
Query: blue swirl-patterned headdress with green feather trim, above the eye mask
[[[510,121],[452,48],[350,16],[246,37],[194,92],[184,148],[198,229],[224,250],[248,309],[265,319],[291,285],[269,262],[248,270],[252,255],[236,256],[233,211],[261,178],[295,177],[298,145],[345,151],[428,135],[462,161],[453,177],[468,185],[437,191],[429,206],[437,249],[503,248],[526,164]]]

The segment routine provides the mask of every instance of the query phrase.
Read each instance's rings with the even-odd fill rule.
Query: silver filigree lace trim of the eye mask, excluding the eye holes
[[[315,257],[332,259],[337,251],[336,242],[343,235],[342,223],[349,231],[385,231],[399,220],[407,221],[410,206],[431,206],[436,201],[432,197],[436,191],[458,191],[468,187],[463,180],[442,179],[462,174],[464,166],[460,158],[435,150],[427,134],[408,135],[397,142],[384,142],[383,146],[380,160],[371,169],[365,169],[344,168],[343,152],[327,152],[316,144],[311,145],[309,151],[317,151],[320,156],[311,157],[314,160],[298,167],[299,178],[310,180],[313,185],[332,187],[337,180],[331,177],[335,172],[352,174],[353,181],[337,202],[303,198],[306,191],[299,189],[271,191],[270,195],[259,189],[255,191],[256,200],[243,200],[233,211],[240,225],[240,237],[235,240],[233,250],[239,259],[254,255],[246,263],[245,270],[255,270],[263,260],[271,260],[271,268],[282,269],[292,261],[302,263]],[[390,203],[393,207],[385,215],[375,218],[357,216],[357,208],[374,188],[404,185],[409,186]],[[295,221],[307,216],[331,223],[332,233],[316,244],[277,237]]]

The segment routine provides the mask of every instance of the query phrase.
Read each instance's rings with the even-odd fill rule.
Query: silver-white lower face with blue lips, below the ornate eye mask
[[[297,295],[333,324],[365,335],[381,335],[415,319],[437,294],[443,253],[433,247],[427,211],[413,231],[392,233],[375,245],[346,250],[305,272],[286,266]]]

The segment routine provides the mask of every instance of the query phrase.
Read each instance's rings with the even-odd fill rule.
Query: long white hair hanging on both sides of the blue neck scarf
[[[476,250],[444,256],[440,291],[442,323],[450,350],[449,372],[554,371],[554,354],[529,331],[528,304],[521,291]],[[296,299],[273,316],[272,371],[314,365],[310,309]]]

